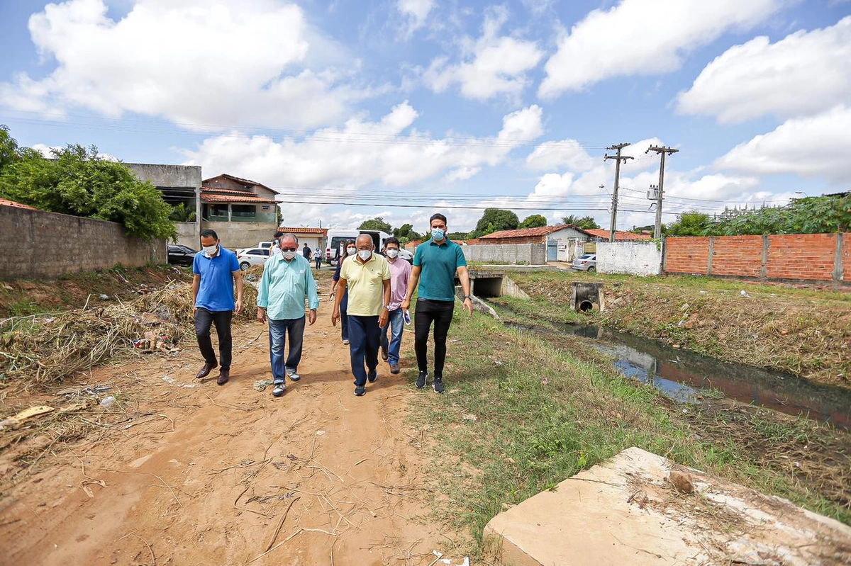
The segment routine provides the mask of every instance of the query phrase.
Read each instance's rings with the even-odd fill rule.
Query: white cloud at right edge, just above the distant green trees
[[[839,105],[818,116],[792,118],[774,131],[740,144],[716,167],[750,174],[793,173],[832,182],[851,180],[851,107]]]

